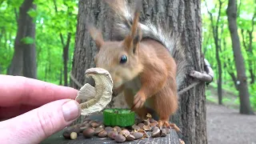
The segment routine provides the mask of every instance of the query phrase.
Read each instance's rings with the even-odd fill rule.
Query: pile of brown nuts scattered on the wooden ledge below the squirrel
[[[166,137],[170,133],[170,128],[163,127],[160,129],[154,118],[136,123],[138,124],[129,127],[111,127],[104,126],[102,122],[86,118],[82,124],[68,127],[62,135],[64,138],[75,139],[78,134],[82,133],[84,138],[97,136],[99,138],[108,137],[116,142],[130,142],[140,138],[149,138],[150,136],[152,138]]]

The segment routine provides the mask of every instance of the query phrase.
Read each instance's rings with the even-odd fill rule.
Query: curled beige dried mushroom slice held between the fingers
[[[81,102],[81,115],[90,115],[103,110],[112,98],[113,80],[110,73],[102,68],[86,70],[86,77],[92,77],[95,87],[86,83],[78,92],[76,101]]]

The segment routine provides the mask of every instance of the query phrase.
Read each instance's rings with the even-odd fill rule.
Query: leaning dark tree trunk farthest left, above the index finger
[[[23,42],[21,42],[22,38],[26,36],[26,21],[29,18],[27,14],[28,10],[30,10],[32,6],[33,0],[24,0],[22,6],[19,8],[18,14],[18,30],[14,43],[14,56],[12,58],[10,68],[7,74],[10,75],[22,75],[23,70]]]

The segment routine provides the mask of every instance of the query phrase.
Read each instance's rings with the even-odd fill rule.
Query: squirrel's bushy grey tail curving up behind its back
[[[134,20],[134,12],[141,10],[141,0],[134,1],[134,6],[129,6],[126,0],[105,0],[109,6],[114,10],[116,17],[114,17],[113,36],[118,40],[122,40],[130,34],[132,22]],[[166,22],[157,22],[152,24],[151,22],[139,22],[138,26],[142,30],[142,38],[152,38],[170,51],[170,54],[174,58],[177,64],[177,76],[176,82],[178,90],[182,85],[184,78],[186,77],[186,58],[184,54],[184,46],[180,42],[178,34],[174,34],[170,26],[166,26]]]

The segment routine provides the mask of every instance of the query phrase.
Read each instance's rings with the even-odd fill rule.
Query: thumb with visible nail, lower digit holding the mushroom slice
[[[0,122],[0,142],[39,143],[62,130],[80,115],[78,102],[62,99]]]

